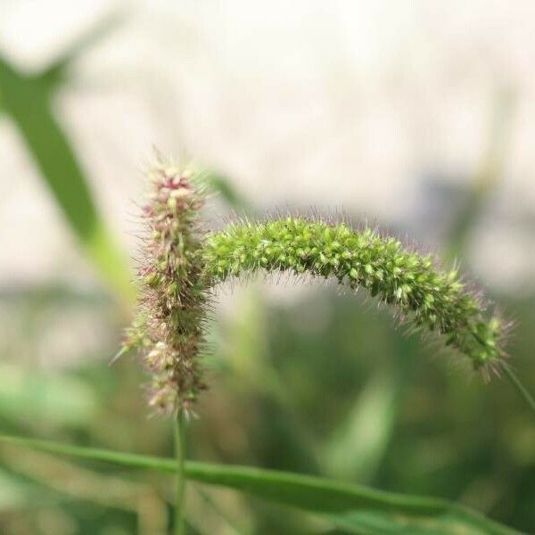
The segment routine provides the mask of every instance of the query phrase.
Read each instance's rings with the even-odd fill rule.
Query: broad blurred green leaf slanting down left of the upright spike
[[[128,264],[99,214],[78,159],[53,115],[47,83],[0,58],[0,99],[87,254],[115,291],[132,300]]]

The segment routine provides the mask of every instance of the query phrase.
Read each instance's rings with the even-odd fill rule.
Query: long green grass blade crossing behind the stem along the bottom
[[[177,470],[175,459],[80,448],[22,437],[0,436],[0,442],[134,469],[166,473]],[[341,528],[344,526],[346,531],[352,525],[353,532],[357,533],[371,532],[363,526],[372,523],[372,517],[374,523],[400,523],[407,530],[420,526],[428,533],[515,533],[471,509],[439,498],[403,496],[320,477],[238,465],[187,462],[185,474],[191,481],[239,490],[257,498],[326,515],[331,523]]]

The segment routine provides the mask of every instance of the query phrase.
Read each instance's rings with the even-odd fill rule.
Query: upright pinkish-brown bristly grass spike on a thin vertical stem
[[[152,371],[149,403],[187,412],[204,388],[198,362],[205,317],[202,284],[202,187],[192,173],[160,161],[149,172],[151,192],[138,269],[138,316],[123,349],[138,348]]]

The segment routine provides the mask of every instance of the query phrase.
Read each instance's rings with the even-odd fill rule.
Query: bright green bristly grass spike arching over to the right
[[[291,271],[335,278],[366,288],[417,327],[427,327],[470,358],[484,374],[504,358],[503,322],[465,291],[457,270],[441,271],[430,255],[407,251],[399,240],[340,224],[284,218],[231,225],[209,235],[206,269],[215,281],[244,271]]]

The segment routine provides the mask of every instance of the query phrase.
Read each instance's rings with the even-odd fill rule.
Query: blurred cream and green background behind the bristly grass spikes
[[[457,259],[535,390],[535,4],[0,1],[0,425],[172,454],[136,358],[152,146],[212,169],[210,220],[315,210]],[[535,530],[535,425],[374,300],[223,288],[191,458],[459,500]],[[171,481],[0,447],[0,531],[167,531]],[[318,532],[190,487],[193,533]]]

